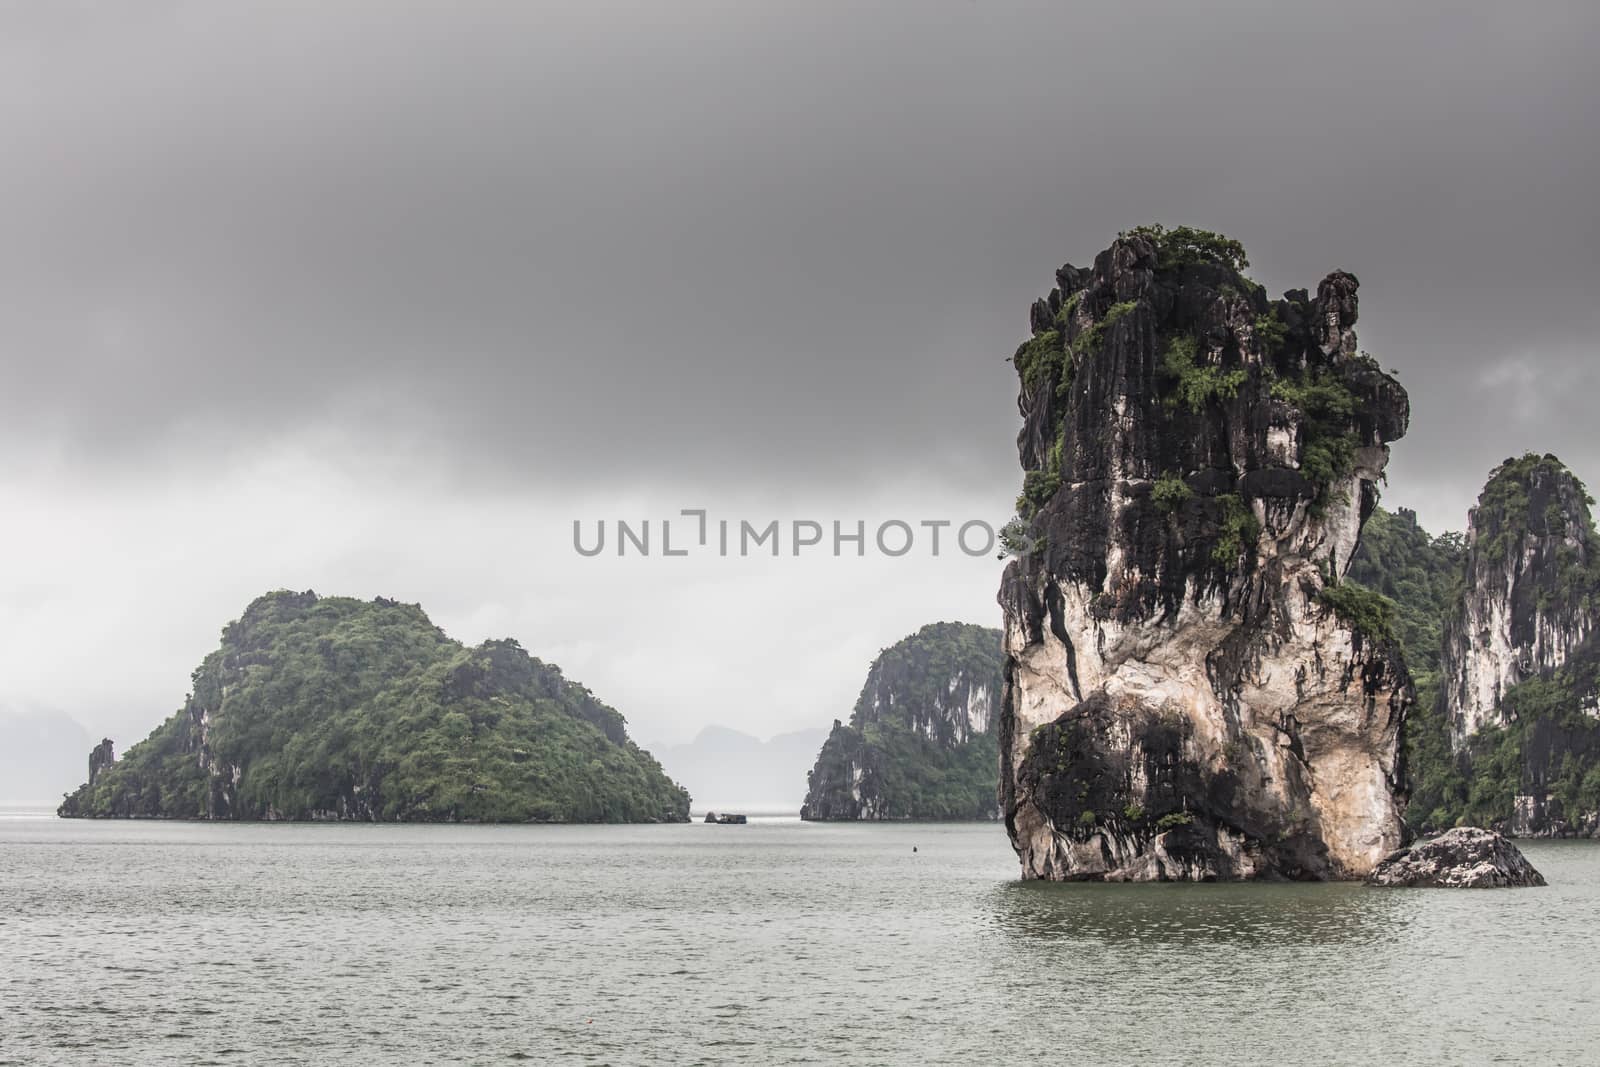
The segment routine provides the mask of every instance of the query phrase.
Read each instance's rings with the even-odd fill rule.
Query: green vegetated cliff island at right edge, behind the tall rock
[[[1507,459],[1466,536],[1378,512],[1350,579],[1384,595],[1418,701],[1406,721],[1418,830],[1600,829],[1600,541],[1555,456]]]

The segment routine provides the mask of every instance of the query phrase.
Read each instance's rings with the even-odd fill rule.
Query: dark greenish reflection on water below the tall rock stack
[[[1099,885],[1011,881],[989,896],[995,926],[1022,947],[1058,942],[1374,944],[1402,934],[1414,894],[1360,885]]]

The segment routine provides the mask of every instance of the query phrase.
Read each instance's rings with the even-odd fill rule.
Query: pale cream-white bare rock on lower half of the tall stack
[[[1264,542],[1269,537],[1264,534]],[[1392,669],[1374,661],[1371,641],[1363,643],[1317,598],[1323,587],[1318,563],[1326,566],[1336,545],[1349,541],[1301,518],[1286,537],[1285,555],[1275,553],[1275,542],[1264,544],[1274,563],[1274,577],[1264,581],[1272,587],[1254,592],[1278,606],[1272,637],[1243,657],[1222,691],[1213,664],[1246,625],[1222,590],[1189,579],[1174,616],[1117,622],[1094,617],[1088,605],[1096,593],[1086,585],[1045,579],[1050,587],[1040,600],[1059,597],[1061,629],[1072,640],[1062,641],[1054,627],[1043,629],[1037,641],[1019,622],[1006,627],[1006,653],[1014,662],[1013,736],[1026,737],[1099,693],[1112,710],[1112,744],[1133,750],[1141,720],[1158,709],[1182,721],[1182,760],[1235,774],[1253,793],[1253,806],[1315,827],[1331,872],[1362,875],[1403,843],[1394,795],[1403,694]],[[1378,686],[1370,685],[1374,672],[1382,678]],[[1027,755],[1027,745],[1014,745],[1005,773],[1018,779]],[[1142,763],[1131,768],[1130,797],[1147,792],[1147,777]],[[1054,825],[1038,808],[1019,813],[1024,877],[1221,873],[1214,864],[1166,856],[1165,835],[1146,843],[1114,825],[1096,824],[1086,837],[1074,833],[1077,829]],[[1234,877],[1269,873],[1246,835],[1226,827],[1208,833],[1230,857]]]

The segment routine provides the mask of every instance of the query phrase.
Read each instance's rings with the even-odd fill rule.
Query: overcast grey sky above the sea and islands
[[[643,739],[846,717],[998,563],[587,560],[682,507],[1003,520],[1032,299],[1141,222],[1362,278],[1461,528],[1600,482],[1592,3],[0,8],[0,704],[122,745],[274,587],[512,635]]]

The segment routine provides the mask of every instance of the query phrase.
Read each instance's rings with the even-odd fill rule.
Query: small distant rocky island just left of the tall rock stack
[[[995,817],[1000,632],[936,622],[885,649],[806,774],[800,817]]]

